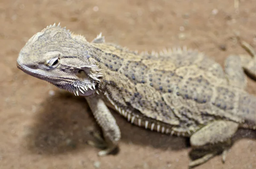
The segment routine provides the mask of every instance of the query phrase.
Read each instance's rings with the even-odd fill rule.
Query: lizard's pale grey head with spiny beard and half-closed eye
[[[88,96],[96,91],[102,76],[89,50],[84,37],[53,24],[26,42],[17,67],[75,95]]]

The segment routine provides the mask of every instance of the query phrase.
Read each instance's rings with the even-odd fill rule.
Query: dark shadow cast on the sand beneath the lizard
[[[189,139],[151,132],[134,126],[111,110],[122,132],[121,142],[152,146],[156,149],[180,150],[189,146]],[[92,130],[100,132],[90,108],[83,97],[57,92],[49,96],[35,113],[35,123],[27,135],[30,151],[40,154],[60,154],[73,150],[84,151],[89,140],[95,140]],[[239,130],[233,140],[255,139],[256,132]]]

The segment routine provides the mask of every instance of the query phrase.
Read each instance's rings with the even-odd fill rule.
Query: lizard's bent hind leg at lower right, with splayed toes
[[[239,124],[233,121],[219,120],[213,121],[195,132],[190,137],[191,146],[194,149],[206,148],[205,152],[210,152],[189,163],[189,167],[194,167],[201,163],[205,163],[220,152],[222,152],[222,161],[224,162],[226,158],[227,146],[231,146],[230,140],[237,131],[238,126]],[[207,149],[209,147],[212,148]]]

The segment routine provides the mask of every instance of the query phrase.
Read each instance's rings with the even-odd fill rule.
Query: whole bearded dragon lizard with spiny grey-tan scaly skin
[[[112,152],[121,138],[111,107],[145,129],[190,137],[195,151],[204,152],[190,167],[220,152],[224,161],[237,129],[255,129],[256,97],[244,91],[243,72],[255,76],[255,65],[249,56],[229,56],[224,72],[197,51],[138,54],[106,43],[101,34],[87,42],[55,24],[29,39],[17,59],[25,73],[85,96],[107,146],[99,155]]]

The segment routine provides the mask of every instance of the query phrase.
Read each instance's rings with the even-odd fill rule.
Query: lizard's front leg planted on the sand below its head
[[[107,149],[100,151],[98,155],[107,155],[117,147],[118,141],[121,138],[120,129],[116,124],[116,119],[113,117],[110,110],[99,95],[85,97],[85,99],[87,100],[97,123],[102,128],[104,141],[107,146]]]

